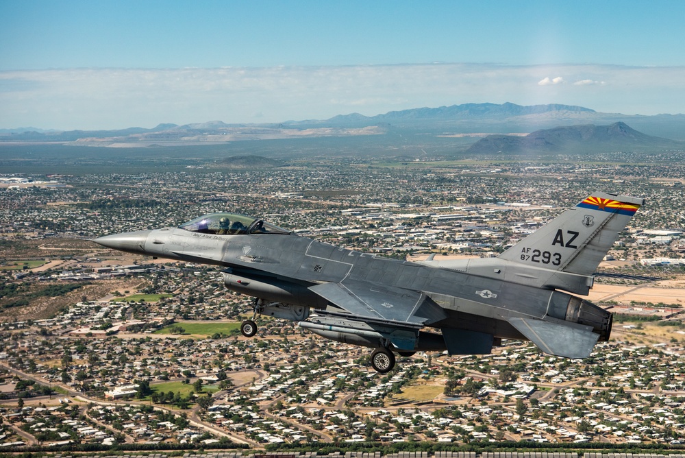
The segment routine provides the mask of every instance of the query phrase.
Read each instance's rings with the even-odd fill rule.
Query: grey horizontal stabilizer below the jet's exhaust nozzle
[[[540,350],[557,357],[587,358],[599,339],[599,334],[593,333],[592,326],[519,317],[511,317],[508,321]]]

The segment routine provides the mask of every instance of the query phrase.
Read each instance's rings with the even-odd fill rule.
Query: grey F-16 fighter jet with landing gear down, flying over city
[[[409,262],[301,237],[245,215],[212,213],[177,228],[99,237],[107,248],[222,268],[225,286],[259,315],[327,339],[374,348],[377,372],[395,353],[488,354],[501,339],[559,357],[590,355],[612,314],[587,295],[593,274],[643,199],[593,193],[496,258]]]

